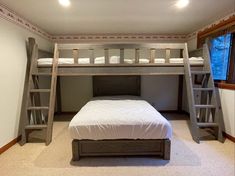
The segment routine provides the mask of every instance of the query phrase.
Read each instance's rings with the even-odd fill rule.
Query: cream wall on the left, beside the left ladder
[[[18,136],[28,37],[36,38],[39,48],[51,50],[51,42],[0,19],[0,147]]]

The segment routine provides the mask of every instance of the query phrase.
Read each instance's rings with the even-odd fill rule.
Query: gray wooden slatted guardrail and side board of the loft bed
[[[94,50],[104,50],[104,63],[95,63]],[[110,63],[109,51],[112,49],[120,50],[118,57],[119,63]],[[126,63],[124,59],[124,50],[132,49],[135,51],[135,58],[131,59],[133,63]],[[147,49],[149,58],[145,59],[148,63],[140,63],[140,50]],[[184,75],[184,59],[188,59],[186,43],[156,43],[156,44],[56,44],[54,55],[59,56],[60,52],[65,50],[72,51],[73,62],[70,64],[57,64],[58,76],[82,76],[82,75]],[[89,63],[78,63],[79,52],[81,50],[89,51]],[[158,50],[165,50],[164,58],[156,58]],[[182,63],[170,63],[171,51],[179,50]],[[59,57],[55,57],[58,60]],[[63,58],[66,59],[66,58]],[[164,59],[164,63],[155,63],[155,60]],[[202,70],[203,63],[192,63],[193,70]],[[38,72],[49,73],[52,70],[52,63],[38,65]]]

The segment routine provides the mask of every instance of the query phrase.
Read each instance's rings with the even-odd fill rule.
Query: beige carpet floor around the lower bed
[[[235,145],[229,140],[192,141],[185,117],[165,114],[173,126],[171,160],[155,157],[98,157],[71,162],[68,122],[54,123],[53,142],[18,144],[0,156],[0,175],[234,176]],[[59,117],[62,118],[62,117]],[[63,119],[66,117],[63,117]],[[36,141],[35,139],[33,141]]]

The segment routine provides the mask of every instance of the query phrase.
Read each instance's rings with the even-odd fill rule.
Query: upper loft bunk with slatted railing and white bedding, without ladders
[[[36,65],[48,73],[55,60],[58,76],[184,75],[187,59],[193,70],[203,70],[208,56],[188,55],[186,43],[55,44],[54,58],[37,58]]]

